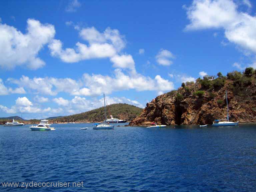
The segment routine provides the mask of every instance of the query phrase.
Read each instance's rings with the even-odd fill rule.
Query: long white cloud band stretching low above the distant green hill
[[[103,93],[135,89],[137,91],[169,91],[174,89],[173,83],[156,75],[154,79],[138,73],[124,74],[121,69],[114,70],[114,76],[100,74],[84,74],[80,80],[70,78],[22,76],[20,79],[9,78],[14,83],[34,91],[34,94],[57,95],[60,92],[76,96],[97,96]],[[164,85],[163,85],[164,84]],[[39,101],[38,101],[39,102]]]

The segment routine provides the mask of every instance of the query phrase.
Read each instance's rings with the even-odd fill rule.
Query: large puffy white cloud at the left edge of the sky
[[[30,69],[44,66],[45,62],[38,57],[38,53],[54,35],[53,25],[41,24],[34,19],[27,20],[25,34],[0,23],[0,66],[6,69],[19,65],[26,65]]]

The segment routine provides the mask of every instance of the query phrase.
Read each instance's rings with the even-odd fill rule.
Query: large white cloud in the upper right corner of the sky
[[[187,30],[223,28],[230,42],[256,52],[256,17],[240,12],[232,0],[194,0],[187,16]]]

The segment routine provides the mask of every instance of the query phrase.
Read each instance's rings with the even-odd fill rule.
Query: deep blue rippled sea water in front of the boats
[[[256,191],[256,125],[91,125],[0,126],[0,191]],[[31,181],[83,181],[83,187],[1,185]]]

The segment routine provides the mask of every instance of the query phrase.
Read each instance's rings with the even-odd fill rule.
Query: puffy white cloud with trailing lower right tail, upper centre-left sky
[[[48,45],[51,55],[59,57],[63,62],[67,63],[93,58],[109,58],[115,68],[127,68],[132,72],[136,71],[132,56],[120,54],[120,51],[126,45],[126,41],[117,29],[108,27],[101,33],[94,27],[88,27],[81,29],[79,35],[89,44],[77,42],[75,48],[63,49],[62,42],[54,39]]]

